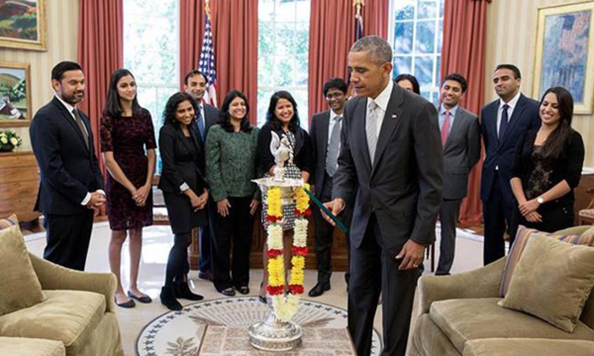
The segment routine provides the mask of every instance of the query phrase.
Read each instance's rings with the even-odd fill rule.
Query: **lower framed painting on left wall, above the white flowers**
[[[0,127],[31,123],[29,63],[0,62]]]

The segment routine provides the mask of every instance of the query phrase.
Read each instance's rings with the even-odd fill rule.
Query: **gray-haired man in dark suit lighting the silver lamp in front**
[[[437,110],[394,85],[392,50],[366,36],[348,56],[358,97],[347,101],[333,214],[354,199],[350,230],[348,327],[359,356],[369,355],[380,291],[383,355],[404,355],[425,247],[435,240],[443,159]]]

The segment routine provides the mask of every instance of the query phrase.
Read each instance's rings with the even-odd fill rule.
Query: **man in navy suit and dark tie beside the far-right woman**
[[[520,69],[515,65],[498,65],[493,85],[499,98],[481,110],[481,135],[486,151],[481,177],[485,265],[505,256],[506,222],[510,244],[516,237],[517,221],[513,211],[517,204],[510,185],[514,152],[526,131],[541,125],[539,103],[520,93],[521,82]]]

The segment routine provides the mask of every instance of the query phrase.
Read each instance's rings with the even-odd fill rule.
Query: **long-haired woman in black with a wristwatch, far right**
[[[565,88],[549,88],[539,113],[541,128],[528,131],[517,145],[510,183],[519,224],[552,233],[573,226],[584,142],[571,128],[573,98]]]

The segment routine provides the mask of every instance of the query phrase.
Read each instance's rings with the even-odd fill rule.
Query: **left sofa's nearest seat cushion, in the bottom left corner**
[[[65,356],[64,344],[55,340],[0,337],[2,355]]]

